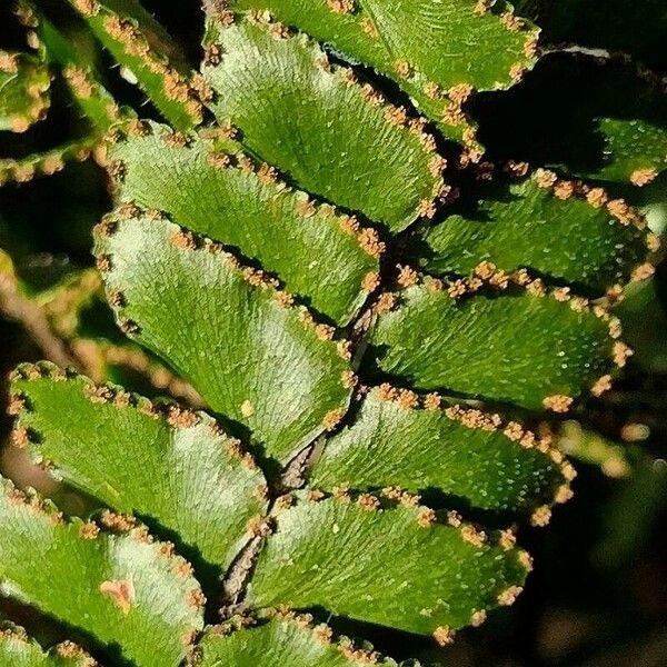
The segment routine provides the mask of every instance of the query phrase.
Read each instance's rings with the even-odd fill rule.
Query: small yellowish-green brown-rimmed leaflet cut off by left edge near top
[[[24,132],[49,107],[48,68],[28,53],[0,51],[0,130]]]

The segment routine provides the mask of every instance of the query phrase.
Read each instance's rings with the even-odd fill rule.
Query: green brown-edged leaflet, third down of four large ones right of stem
[[[512,441],[497,415],[416,402],[414,394],[372,389],[352,426],[327,441],[310,485],[364,491],[397,486],[456,496],[484,509],[525,510],[551,502],[565,482],[532,434],[519,428]],[[506,432],[512,428],[518,425]]]

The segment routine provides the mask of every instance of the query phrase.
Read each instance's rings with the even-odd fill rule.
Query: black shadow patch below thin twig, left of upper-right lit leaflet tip
[[[467,110],[479,122],[488,159],[583,175],[595,175],[611,159],[600,119],[667,126],[667,99],[633,63],[573,52],[545,56],[521,83],[475,96]]]

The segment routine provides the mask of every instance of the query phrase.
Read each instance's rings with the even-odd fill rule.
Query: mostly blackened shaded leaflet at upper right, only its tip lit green
[[[667,167],[667,96],[620,58],[546,56],[519,86],[479,100],[475,117],[489,159],[636,185]]]

